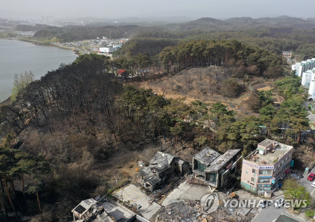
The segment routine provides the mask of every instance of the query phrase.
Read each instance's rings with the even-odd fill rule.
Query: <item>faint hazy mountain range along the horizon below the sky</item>
[[[83,23],[82,23],[83,22]],[[104,26],[104,25],[138,25],[138,26],[159,26],[165,30],[170,31],[204,31],[204,30],[246,30],[250,28],[259,27],[291,27],[291,28],[306,28],[315,29],[314,18],[295,18],[289,16],[279,16],[274,18],[258,18],[253,19],[250,17],[229,18],[225,20],[215,18],[199,18],[194,19],[186,16],[174,17],[129,17],[119,19],[109,18],[76,18],[71,23],[64,23],[63,25],[87,25],[87,26]],[[0,19],[0,26],[13,27],[17,25],[32,25],[27,21]],[[33,24],[34,26],[35,24]],[[25,30],[27,27],[20,27],[19,29]],[[28,28],[31,28],[30,26]],[[39,27],[36,27],[36,30]],[[42,27],[41,27],[42,28]],[[31,31],[31,30],[30,30]]]

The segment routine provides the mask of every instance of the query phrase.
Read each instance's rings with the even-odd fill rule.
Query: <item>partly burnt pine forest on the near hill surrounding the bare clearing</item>
[[[236,90],[238,93],[232,96],[238,97],[246,86],[233,79],[229,70],[239,70],[235,74],[239,78],[270,77],[268,69],[282,69],[282,58],[238,41],[193,41],[166,47],[157,56],[120,55],[109,60],[106,56],[84,55],[71,65],[61,64],[40,80],[25,83],[16,100],[1,107],[1,131],[7,133],[0,146],[5,195],[0,199],[2,218],[14,211],[16,217],[28,214],[34,221],[71,220],[70,211],[79,201],[111,191],[115,179],[123,184],[125,176],[117,171],[117,164],[115,169],[115,156],[141,152],[150,144],[163,151],[169,141],[175,154],[185,148],[195,152],[208,145],[220,152],[241,148],[246,155],[264,137],[283,135],[278,125],[287,123],[286,127],[294,128],[279,141],[290,145],[299,142],[300,130],[307,129],[308,121],[298,95],[300,79],[295,75],[275,82],[278,93],[287,99],[280,109],[272,106],[268,93],[253,94],[256,103],[252,109],[259,116],[240,118],[220,102],[170,99],[107,74],[120,68],[147,68],[152,73],[144,80],[162,81],[166,75],[177,73],[189,86],[188,75],[178,72],[210,65],[221,65],[226,73],[202,71],[196,73],[198,81]],[[210,122],[215,123],[215,129]],[[259,125],[266,125],[267,132]],[[14,142],[15,137],[18,140]],[[115,178],[110,176],[113,172]]]

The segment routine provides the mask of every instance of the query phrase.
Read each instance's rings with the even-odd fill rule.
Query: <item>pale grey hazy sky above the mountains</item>
[[[315,17],[315,1],[296,0],[0,0],[0,17]]]

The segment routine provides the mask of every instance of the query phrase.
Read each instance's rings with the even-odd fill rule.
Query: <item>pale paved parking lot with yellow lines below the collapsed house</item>
[[[161,205],[155,202],[151,203],[152,200],[149,200],[149,198],[133,184],[129,184],[123,189],[116,191],[113,196],[124,202],[130,201],[130,204],[140,204],[142,206],[140,213],[147,219],[151,219],[151,217],[161,208]]]

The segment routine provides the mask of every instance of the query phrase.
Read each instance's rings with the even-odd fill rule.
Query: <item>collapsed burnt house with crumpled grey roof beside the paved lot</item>
[[[186,174],[189,162],[168,153],[158,151],[151,159],[149,166],[144,166],[138,174],[142,176],[143,186],[154,191],[173,173]]]

